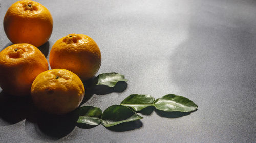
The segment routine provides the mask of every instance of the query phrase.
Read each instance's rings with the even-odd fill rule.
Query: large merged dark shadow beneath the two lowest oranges
[[[1,91],[0,119],[0,126],[12,125],[26,119],[37,124],[42,133],[59,139],[75,128],[78,116],[75,111],[67,115],[50,115],[37,110],[30,96],[18,97]]]

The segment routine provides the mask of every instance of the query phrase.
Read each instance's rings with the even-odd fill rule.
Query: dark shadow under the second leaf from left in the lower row
[[[143,123],[140,120],[132,121],[132,122],[124,122],[112,127],[106,127],[106,129],[115,131],[115,132],[124,132],[131,131],[134,129],[138,129],[143,126]]]

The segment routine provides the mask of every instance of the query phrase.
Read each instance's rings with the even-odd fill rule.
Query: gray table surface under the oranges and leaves
[[[0,19],[15,1],[0,1]],[[256,142],[256,1],[38,1],[52,14],[52,45],[70,33],[92,37],[99,73],[117,72],[123,92],[87,93],[105,110],[130,94],[173,93],[198,106],[190,114],[155,111],[116,128],[77,127],[38,115],[29,99],[0,89],[0,142]],[[11,45],[0,22],[0,49]],[[72,123],[71,123],[72,122]]]

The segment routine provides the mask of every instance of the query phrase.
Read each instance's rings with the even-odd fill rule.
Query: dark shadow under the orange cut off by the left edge
[[[0,118],[4,122],[0,122],[0,125],[12,125],[18,123],[30,114],[32,108],[31,98],[18,97],[0,92]]]

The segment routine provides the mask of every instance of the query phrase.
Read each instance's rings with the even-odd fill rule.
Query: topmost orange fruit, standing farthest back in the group
[[[29,43],[39,47],[48,41],[52,28],[49,10],[35,1],[17,1],[5,14],[4,30],[14,44]]]

